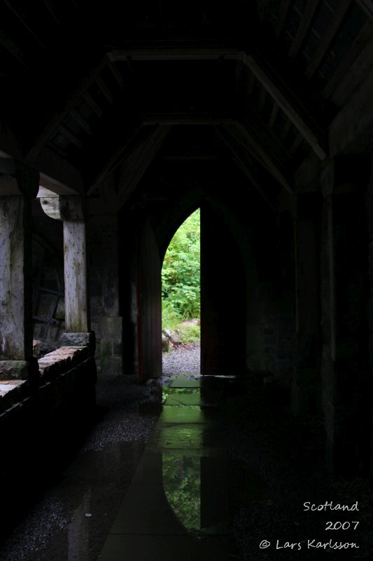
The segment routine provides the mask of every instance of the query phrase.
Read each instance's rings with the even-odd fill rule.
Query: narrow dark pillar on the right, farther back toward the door
[[[295,414],[321,405],[319,248],[321,196],[297,196],[295,239],[295,349],[292,408]]]

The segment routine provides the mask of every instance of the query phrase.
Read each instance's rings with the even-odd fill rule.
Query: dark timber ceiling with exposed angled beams
[[[17,156],[76,170],[88,194],[134,154],[170,158],[167,128],[187,125],[291,191],[364,79],[372,18],[370,0],[3,0],[1,123]]]

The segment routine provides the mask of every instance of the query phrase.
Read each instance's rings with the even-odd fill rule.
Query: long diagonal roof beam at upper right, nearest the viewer
[[[290,119],[293,125],[295,125],[300,133],[302,133],[303,137],[307,140],[312,149],[314,149],[318,157],[321,160],[325,159],[326,152],[321,146],[321,139],[307,125],[303,117],[300,115],[300,112],[295,109],[293,104],[289,101],[288,95],[280,89],[280,87],[274,82],[274,79],[269,76],[253,55],[243,55],[243,59],[244,63],[251,69],[251,72],[253,72],[260,83],[265,86],[269,95],[271,95],[274,98],[274,101],[279,104],[279,107],[283,110],[286,116],[288,116],[288,119]]]

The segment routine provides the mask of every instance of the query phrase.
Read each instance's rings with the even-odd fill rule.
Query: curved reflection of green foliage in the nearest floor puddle
[[[163,453],[164,494],[183,526],[201,529],[201,459]]]

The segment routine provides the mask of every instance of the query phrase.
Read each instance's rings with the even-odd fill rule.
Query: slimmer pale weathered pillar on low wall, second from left
[[[90,334],[87,295],[87,240],[85,201],[78,195],[41,197],[41,206],[49,217],[64,222],[64,302],[66,346],[94,346]],[[92,349],[94,351],[94,349]]]

